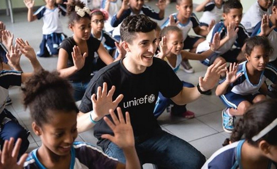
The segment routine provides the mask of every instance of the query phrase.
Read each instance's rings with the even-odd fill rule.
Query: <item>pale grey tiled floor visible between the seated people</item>
[[[154,9],[155,1],[148,3]],[[174,13],[175,4],[172,3],[166,8],[166,15]],[[201,14],[196,13],[198,17]],[[21,37],[24,40],[28,40],[35,48],[39,49],[39,44],[42,39],[42,21],[36,20],[34,22],[27,22],[27,12],[20,12],[14,14],[15,23],[11,24],[10,18],[5,16],[5,14],[0,14],[0,20],[2,20],[6,29],[12,31],[15,37]],[[67,18],[62,19],[64,33],[67,35],[72,35],[72,32],[67,28]],[[158,21],[161,24],[163,21]],[[52,58],[38,58],[42,66],[46,70],[54,70],[57,64],[57,57]],[[181,80],[191,82],[194,85],[198,83],[199,76],[203,76],[207,67],[202,65],[199,61],[190,61],[193,66],[195,73],[186,74],[184,71],[180,70],[177,74]],[[25,72],[32,71],[31,65],[28,60],[22,57],[21,66]],[[20,121],[20,123],[31,131],[29,136],[30,146],[28,151],[37,148],[41,145],[40,138],[36,136],[31,129],[31,119],[29,111],[24,109],[21,103],[21,95],[19,87],[10,88],[10,97],[13,104],[7,106]],[[194,119],[183,119],[177,117],[171,117],[168,113],[164,112],[158,121],[162,125],[162,128],[192,144],[199,151],[201,151],[207,158],[209,158],[212,153],[217,149],[221,148],[221,144],[229,134],[225,133],[222,129],[222,118],[221,111],[224,105],[218,97],[214,95],[206,96],[202,95],[197,101],[188,104],[188,110],[195,112],[196,117]],[[96,144],[97,139],[93,136],[93,130],[79,134],[77,140],[82,140],[85,142],[90,142]],[[152,168],[150,164],[144,165],[144,168]]]

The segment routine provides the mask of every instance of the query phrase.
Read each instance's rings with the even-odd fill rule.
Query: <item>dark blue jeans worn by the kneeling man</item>
[[[146,136],[147,137],[147,136]],[[201,168],[206,159],[185,140],[182,140],[162,129],[158,129],[151,136],[135,137],[136,152],[141,165],[156,164],[159,168]],[[122,149],[110,142],[104,152],[119,162],[126,163]]]

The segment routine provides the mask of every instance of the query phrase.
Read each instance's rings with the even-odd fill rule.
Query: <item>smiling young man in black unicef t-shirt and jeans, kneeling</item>
[[[141,164],[152,163],[165,168],[201,168],[205,157],[188,142],[163,131],[153,111],[158,92],[179,105],[196,100],[201,93],[215,86],[226,65],[218,63],[210,66],[205,77],[199,78],[198,87],[183,87],[171,67],[153,57],[156,26],[157,23],[145,15],[129,16],[123,21],[120,33],[127,55],[98,71],[90,81],[80,105],[81,112],[78,113],[78,132],[96,123],[94,135],[98,138],[98,145],[106,154],[125,163],[123,151],[101,138],[102,134],[113,135],[102,117],[108,114],[109,109],[114,110],[119,106],[130,113]],[[107,89],[111,90],[107,92]],[[111,119],[110,115],[107,117]]]

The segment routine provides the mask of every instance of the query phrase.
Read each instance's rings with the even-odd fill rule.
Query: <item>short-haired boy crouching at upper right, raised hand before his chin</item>
[[[204,42],[197,46],[196,52],[201,53],[208,50],[209,42],[212,42],[214,34],[220,33],[220,39],[227,37],[227,29],[231,24],[235,24],[237,35],[224,43],[214,54],[201,61],[204,65],[211,65],[219,61],[225,62],[240,62],[245,60],[242,56],[242,47],[244,41],[249,37],[244,26],[240,24],[242,20],[242,4],[238,0],[228,0],[224,3],[223,7],[223,21],[217,23],[207,35]]]

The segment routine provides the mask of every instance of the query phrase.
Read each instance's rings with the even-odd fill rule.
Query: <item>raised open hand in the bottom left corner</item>
[[[5,140],[2,152],[0,153],[0,169],[9,168],[9,169],[21,169],[23,164],[28,157],[28,154],[24,154],[20,157],[17,162],[17,156],[20,149],[20,144],[22,140],[18,138],[14,146],[14,138],[10,140]]]

